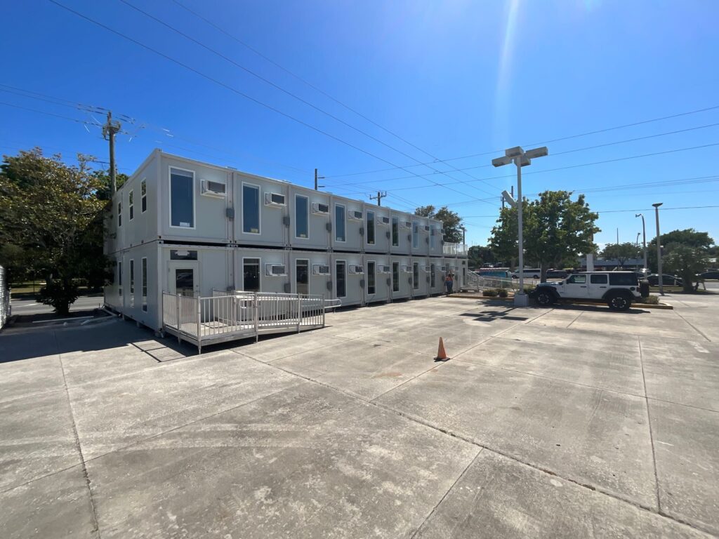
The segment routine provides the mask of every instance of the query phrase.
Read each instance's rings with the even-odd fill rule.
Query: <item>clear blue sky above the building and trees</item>
[[[91,125],[101,115],[71,105],[83,103],[135,119],[118,139],[122,172],[155,147],[302,185],[317,167],[334,193],[447,204],[468,243],[485,244],[514,177],[491,158],[554,141],[523,170],[524,193],[585,193],[598,243],[617,229],[635,241],[636,211],[649,240],[654,202],[662,231],[719,240],[719,208],[697,208],[719,206],[716,2],[178,0],[223,33],[173,0],[127,0],[228,61],[120,0],[58,1],[201,74],[48,0],[6,3],[4,154],[38,145],[107,160]]]

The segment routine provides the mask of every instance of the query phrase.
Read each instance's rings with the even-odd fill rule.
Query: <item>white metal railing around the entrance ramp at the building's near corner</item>
[[[213,290],[208,298],[162,292],[162,327],[198,346],[260,333],[324,327],[320,295]]]

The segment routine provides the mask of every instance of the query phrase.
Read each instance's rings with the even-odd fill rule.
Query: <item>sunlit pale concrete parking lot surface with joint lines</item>
[[[0,333],[0,537],[719,535],[719,295]],[[434,361],[439,337],[449,356]]]

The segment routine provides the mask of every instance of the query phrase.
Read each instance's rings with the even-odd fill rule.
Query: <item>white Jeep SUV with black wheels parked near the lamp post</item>
[[[590,300],[606,302],[610,309],[627,310],[633,300],[641,298],[634,272],[582,272],[558,282],[542,282],[531,297],[537,305],[551,305],[557,300]]]

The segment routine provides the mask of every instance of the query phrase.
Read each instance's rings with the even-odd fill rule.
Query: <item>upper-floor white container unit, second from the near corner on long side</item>
[[[290,185],[234,172],[233,242],[246,246],[288,247]]]

